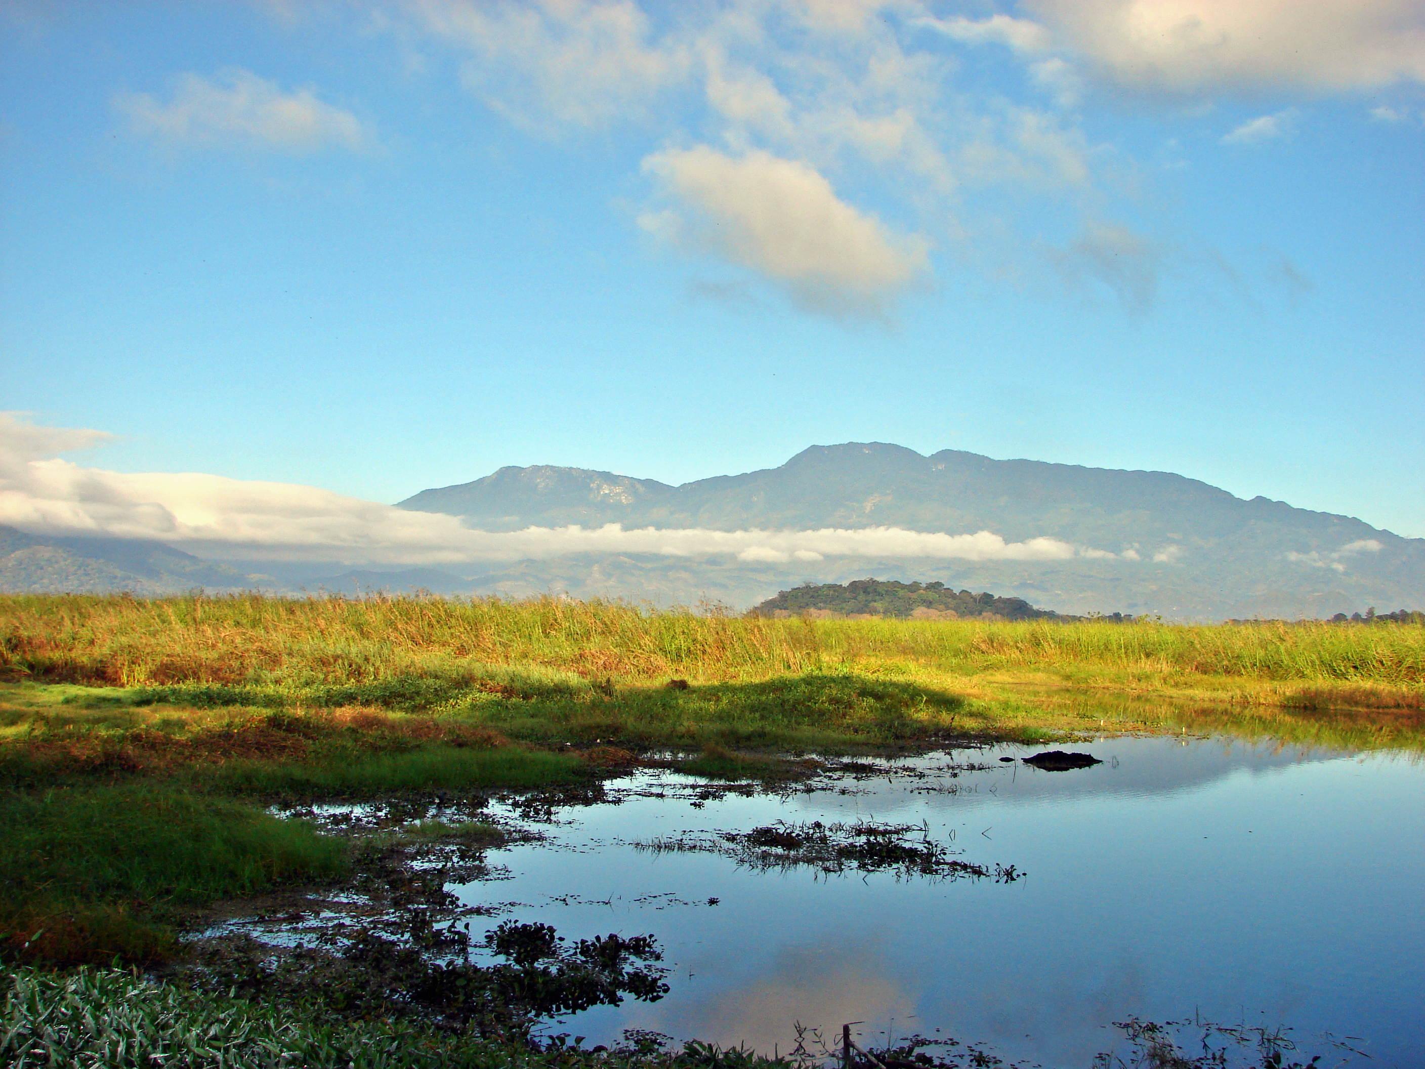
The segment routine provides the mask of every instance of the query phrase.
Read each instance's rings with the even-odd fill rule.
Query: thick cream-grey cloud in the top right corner
[[[1425,81],[1419,0],[1026,0],[1106,77],[1143,90],[1358,90]]]

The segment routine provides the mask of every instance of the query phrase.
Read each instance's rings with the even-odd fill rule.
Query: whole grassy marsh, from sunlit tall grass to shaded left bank
[[[685,686],[684,686],[685,684]],[[1425,627],[770,620],[559,599],[0,597],[0,952],[162,961],[351,865],[275,798],[533,788],[680,751],[1228,731],[1425,750]]]

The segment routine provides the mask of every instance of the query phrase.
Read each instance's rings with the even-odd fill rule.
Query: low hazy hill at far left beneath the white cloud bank
[[[271,586],[271,580],[161,542],[54,537],[0,526],[0,590],[10,593],[161,594],[261,586]]]

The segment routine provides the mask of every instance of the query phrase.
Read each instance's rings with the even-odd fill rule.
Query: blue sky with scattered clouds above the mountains
[[[1425,0],[10,0],[0,522],[881,440],[1425,536],[1422,150]]]

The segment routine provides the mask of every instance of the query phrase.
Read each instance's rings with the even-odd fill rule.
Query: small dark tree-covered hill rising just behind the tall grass
[[[881,579],[858,579],[845,586],[841,583],[805,583],[791,590],[782,590],[777,597],[767,599],[755,606],[750,614],[799,616],[802,613],[979,620],[1080,619],[1060,616],[1047,609],[1035,609],[1022,597],[996,597],[990,593],[976,594],[969,590],[952,590],[945,583],[896,583]]]

